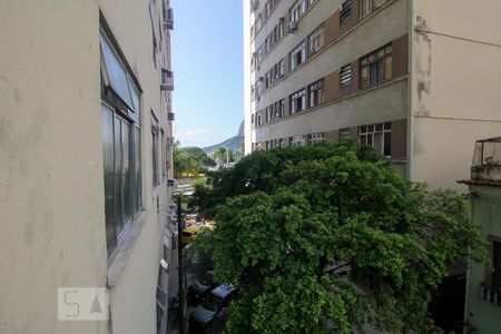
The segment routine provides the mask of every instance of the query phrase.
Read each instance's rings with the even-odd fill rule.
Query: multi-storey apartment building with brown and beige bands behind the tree
[[[356,138],[407,179],[465,189],[501,130],[501,2],[244,0],[245,149]]]

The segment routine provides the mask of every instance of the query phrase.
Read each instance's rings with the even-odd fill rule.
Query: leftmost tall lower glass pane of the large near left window
[[[101,107],[102,156],[105,169],[106,245],[108,255],[117,245],[115,227],[114,112]]]

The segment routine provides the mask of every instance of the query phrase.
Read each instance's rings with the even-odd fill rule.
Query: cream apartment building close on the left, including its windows
[[[0,333],[166,333],[171,29],[169,0],[0,1]]]

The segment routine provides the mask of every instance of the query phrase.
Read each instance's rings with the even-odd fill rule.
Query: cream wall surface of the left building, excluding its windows
[[[144,90],[144,223],[119,264],[106,249],[99,10]],[[151,186],[150,109],[171,129],[150,29],[147,1],[0,1],[0,333],[156,333],[169,198]],[[110,279],[110,322],[58,321],[58,287]]]

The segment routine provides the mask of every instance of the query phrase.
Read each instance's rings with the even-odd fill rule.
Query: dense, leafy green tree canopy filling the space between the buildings
[[[239,287],[229,333],[432,333],[448,266],[485,258],[460,195],[355,143],[257,151],[195,195],[216,222],[195,245]]]

